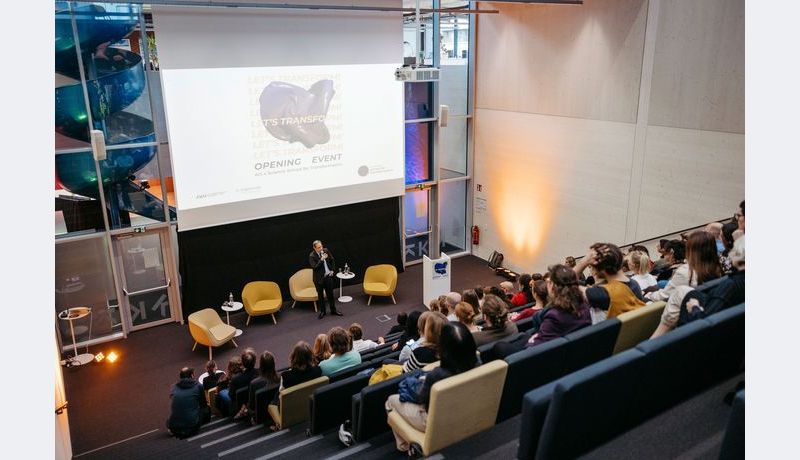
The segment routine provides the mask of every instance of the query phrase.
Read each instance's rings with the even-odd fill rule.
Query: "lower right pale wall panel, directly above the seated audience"
[[[744,135],[650,126],[636,239],[733,215],[744,199]]]

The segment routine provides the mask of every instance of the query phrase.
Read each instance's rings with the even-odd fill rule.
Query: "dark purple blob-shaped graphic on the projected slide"
[[[273,81],[261,92],[261,121],[276,139],[309,149],[325,144],[331,138],[325,117],[335,93],[333,80],[320,80],[309,89]]]

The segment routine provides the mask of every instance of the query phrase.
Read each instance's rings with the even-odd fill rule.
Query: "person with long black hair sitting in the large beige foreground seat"
[[[435,312],[430,312],[435,315]],[[400,392],[386,400],[386,411],[397,411],[411,426],[425,431],[431,387],[441,380],[461,374],[477,364],[475,340],[467,328],[460,323],[447,323],[441,329],[439,340],[441,364],[436,369],[411,374],[400,384]],[[397,449],[407,452],[409,442],[394,432]]]

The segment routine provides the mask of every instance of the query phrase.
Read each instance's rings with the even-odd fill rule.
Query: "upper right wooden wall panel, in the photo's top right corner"
[[[744,0],[661,0],[649,123],[744,134]]]

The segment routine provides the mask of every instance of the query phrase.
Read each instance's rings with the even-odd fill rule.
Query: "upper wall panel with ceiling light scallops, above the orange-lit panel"
[[[478,16],[477,107],[636,120],[647,2],[490,3]]]

